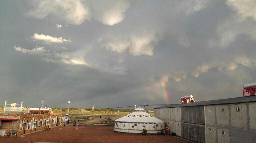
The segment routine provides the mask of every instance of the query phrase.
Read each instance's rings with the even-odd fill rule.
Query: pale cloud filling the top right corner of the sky
[[[256,21],[256,1],[255,0],[227,0],[226,4],[233,8],[243,19],[251,17]]]

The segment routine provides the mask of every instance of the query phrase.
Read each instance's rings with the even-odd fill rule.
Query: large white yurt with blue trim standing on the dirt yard
[[[142,133],[143,129],[147,133],[158,133],[158,130],[164,130],[164,121],[148,114],[146,110],[139,107],[134,112],[115,120],[116,132]]]

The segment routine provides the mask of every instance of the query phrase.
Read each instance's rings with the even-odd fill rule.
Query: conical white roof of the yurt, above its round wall
[[[116,119],[116,122],[125,122],[125,123],[163,123],[164,121],[153,117],[148,114],[143,108],[139,107],[134,110],[134,112]]]

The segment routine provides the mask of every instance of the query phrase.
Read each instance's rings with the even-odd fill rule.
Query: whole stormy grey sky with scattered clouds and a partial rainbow
[[[255,0],[0,0],[0,106],[241,97],[256,82],[255,13]]]

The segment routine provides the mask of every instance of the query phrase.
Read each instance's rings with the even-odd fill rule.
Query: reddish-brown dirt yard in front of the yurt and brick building
[[[0,143],[191,143],[171,135],[140,135],[114,132],[114,126],[81,125],[76,127],[68,124],[60,129],[39,131],[24,136],[3,137]]]

